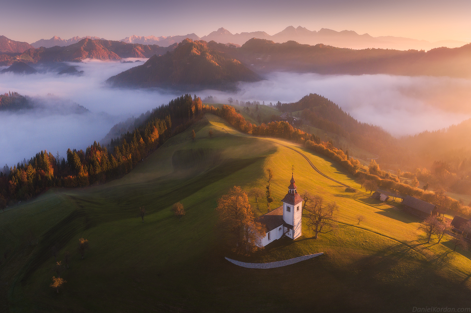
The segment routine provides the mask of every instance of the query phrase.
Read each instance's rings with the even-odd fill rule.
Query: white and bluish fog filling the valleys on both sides
[[[146,61],[146,59],[126,59]],[[107,78],[142,62],[84,60],[68,63],[83,75],[58,75],[36,66],[37,74],[0,74],[0,92],[31,97],[33,109],[0,111],[0,164],[13,166],[47,149],[85,149],[100,141],[116,123],[168,103],[181,93],[161,89],[124,89]],[[1,68],[0,68],[1,70]],[[337,103],[361,122],[380,125],[395,136],[436,130],[471,117],[471,81],[447,77],[391,75],[319,75],[276,72],[255,83],[240,83],[237,93],[193,91],[239,101],[296,102],[317,93]],[[76,110],[81,105],[87,110]]]

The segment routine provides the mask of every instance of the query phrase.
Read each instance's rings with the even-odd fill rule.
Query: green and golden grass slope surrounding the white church
[[[453,252],[447,237],[425,244],[418,220],[362,191],[346,192],[281,144],[360,189],[323,157],[290,142],[241,134],[207,114],[120,180],[52,189],[0,213],[0,252],[9,251],[0,267],[5,295],[0,310],[410,312],[414,306],[471,306],[469,252]],[[304,227],[294,242],[277,241],[250,257],[231,255],[215,227],[217,199],[235,185],[264,188],[271,168],[276,208],[287,192],[292,165],[299,192],[339,205],[336,232],[314,240]],[[267,211],[266,200],[250,199],[257,215]],[[187,210],[181,221],[170,211],[178,201]],[[142,206],[144,222],[138,217]],[[358,214],[365,216],[359,225]],[[80,237],[90,243],[84,259],[77,252]],[[67,282],[58,294],[49,287],[56,275],[54,244],[60,248],[57,260],[72,252],[70,269],[61,274]],[[269,270],[245,269],[224,259],[265,262],[321,251],[325,255]]]

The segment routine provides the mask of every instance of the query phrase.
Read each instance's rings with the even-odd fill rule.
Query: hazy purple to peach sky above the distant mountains
[[[2,4],[0,35],[32,43],[59,36],[98,36],[119,40],[130,35],[202,37],[224,27],[232,33],[286,26],[318,31],[438,41],[471,41],[469,0],[16,0]]]

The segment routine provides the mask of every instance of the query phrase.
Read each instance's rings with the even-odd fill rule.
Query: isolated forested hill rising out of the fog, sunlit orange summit
[[[171,53],[154,55],[107,81],[114,86],[234,89],[238,81],[258,80],[252,70],[205,41],[185,39]]]

